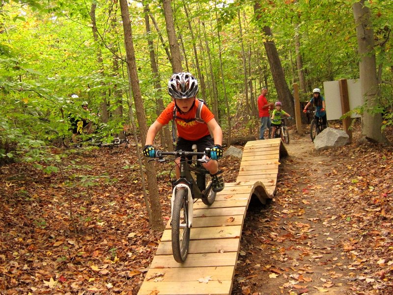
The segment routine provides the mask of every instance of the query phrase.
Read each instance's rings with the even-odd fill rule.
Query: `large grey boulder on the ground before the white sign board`
[[[315,137],[314,147],[316,150],[337,148],[348,142],[349,136],[345,131],[328,127]]]

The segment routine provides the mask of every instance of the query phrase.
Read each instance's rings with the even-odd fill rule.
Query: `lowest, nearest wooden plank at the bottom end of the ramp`
[[[209,281],[208,284],[194,282],[146,282],[143,283],[139,295],[221,295],[228,294],[232,287],[232,280]]]

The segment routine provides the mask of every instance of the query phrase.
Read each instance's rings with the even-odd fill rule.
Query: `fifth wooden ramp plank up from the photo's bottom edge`
[[[240,236],[242,232],[241,225],[234,226],[214,226],[207,228],[191,228],[190,239],[210,239],[210,238],[234,238]],[[161,237],[162,241],[170,241],[171,238],[171,230],[165,230],[163,236]]]

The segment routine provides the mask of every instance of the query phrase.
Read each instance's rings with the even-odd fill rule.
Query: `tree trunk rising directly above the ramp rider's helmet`
[[[172,7],[170,6],[171,1],[164,0],[163,2],[164,2],[163,8],[164,8],[165,23],[168,33],[170,55],[172,56],[172,70],[173,73],[179,73],[183,71],[183,67],[181,65],[181,54],[180,54],[179,44],[177,43],[175,26],[173,23]]]

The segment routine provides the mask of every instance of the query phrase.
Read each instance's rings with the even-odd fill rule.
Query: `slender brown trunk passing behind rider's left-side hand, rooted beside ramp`
[[[140,140],[142,141],[142,143],[144,143],[146,141],[147,125],[146,125],[146,116],[143,109],[143,101],[140,95],[137,64],[135,59],[134,44],[133,44],[131,22],[130,22],[130,13],[128,11],[127,0],[119,0],[119,1],[120,1],[120,9],[121,9],[121,18],[123,20],[124,43],[125,43],[125,49],[127,55],[127,68],[128,68],[129,81],[131,83],[131,89],[133,92],[134,103],[135,103],[135,110],[137,113],[137,119],[140,129]],[[152,213],[150,225],[153,231],[161,232],[164,230],[165,227],[162,219],[161,204],[158,196],[156,171],[153,164],[147,161],[147,158],[145,158],[145,167],[146,167],[147,183],[149,186],[150,206],[151,206],[151,213]]]

